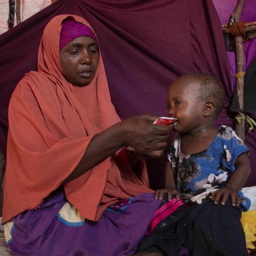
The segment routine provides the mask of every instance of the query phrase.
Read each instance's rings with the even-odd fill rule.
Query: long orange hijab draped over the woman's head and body
[[[94,135],[120,121],[111,103],[101,57],[89,85],[73,86],[62,74],[60,30],[68,16],[91,28],[76,15],[54,17],[43,32],[38,72],[26,74],[10,100],[3,223],[24,210],[40,207],[60,185],[68,201],[90,220],[100,219],[118,199],[152,192],[146,187],[149,183],[144,166],[140,182],[124,150],[63,184]]]

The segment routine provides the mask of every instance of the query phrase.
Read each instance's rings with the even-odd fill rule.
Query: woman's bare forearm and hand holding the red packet
[[[160,157],[167,146],[167,139],[172,126],[153,124],[157,116],[142,115],[131,117],[96,134],[86,149],[75,171],[65,182],[79,177],[103,159],[124,146],[132,146],[140,156]],[[129,161],[131,166],[137,159]]]

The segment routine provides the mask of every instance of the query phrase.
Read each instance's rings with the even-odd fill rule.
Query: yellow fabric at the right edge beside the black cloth
[[[256,210],[242,212],[242,227],[245,233],[247,249],[256,249],[252,242],[256,242]]]

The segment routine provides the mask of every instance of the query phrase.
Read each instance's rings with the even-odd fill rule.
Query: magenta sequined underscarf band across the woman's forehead
[[[71,19],[64,20],[62,23],[62,29],[60,31],[60,50],[74,38],[80,36],[89,36],[98,43],[96,36],[91,28]]]

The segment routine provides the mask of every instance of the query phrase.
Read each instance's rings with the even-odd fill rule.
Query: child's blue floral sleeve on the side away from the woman
[[[246,153],[248,155],[250,153],[250,149],[247,148],[238,135],[236,135],[235,131],[230,127],[225,128],[223,135],[225,138],[223,138],[222,158],[228,169],[230,169],[231,172],[234,172],[234,165],[238,156],[242,153]]]

